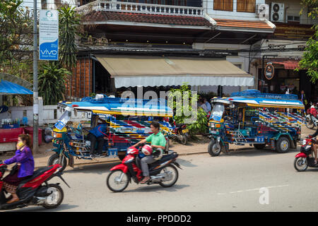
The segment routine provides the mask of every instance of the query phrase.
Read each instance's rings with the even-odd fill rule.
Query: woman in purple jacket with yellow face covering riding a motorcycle
[[[18,136],[18,143],[16,144],[16,155],[4,161],[4,164],[10,165],[16,162],[17,170],[11,172],[4,178],[4,189],[11,193],[12,198],[7,203],[14,203],[19,201],[16,194],[16,189],[20,182],[32,176],[34,171],[34,159],[32,152],[32,143],[28,134],[21,134]]]

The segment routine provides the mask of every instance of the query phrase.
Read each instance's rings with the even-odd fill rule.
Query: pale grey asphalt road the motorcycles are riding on
[[[53,211],[318,211],[318,169],[297,172],[296,153],[251,148],[218,157],[182,156],[175,186],[132,183],[122,193],[106,186],[107,174],[117,163],[67,167],[64,179],[71,189],[61,182],[64,201]]]

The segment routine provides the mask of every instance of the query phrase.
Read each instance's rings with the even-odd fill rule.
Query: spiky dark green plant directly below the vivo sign
[[[43,105],[57,105],[64,100],[65,76],[71,72],[59,69],[57,64],[43,64],[39,71],[39,95],[43,97]]]

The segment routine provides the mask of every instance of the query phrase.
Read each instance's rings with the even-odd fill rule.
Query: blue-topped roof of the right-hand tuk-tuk
[[[245,90],[232,93],[230,97],[212,98],[211,102],[230,105],[232,103],[245,103],[249,107],[275,107],[305,109],[297,95],[261,93],[259,90]]]

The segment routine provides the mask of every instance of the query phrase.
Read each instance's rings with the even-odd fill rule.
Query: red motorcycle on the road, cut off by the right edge
[[[302,141],[300,153],[295,156],[294,167],[299,172],[305,171],[307,167],[318,167],[314,164],[314,157],[312,157],[312,145],[316,142],[316,138],[307,137]]]

